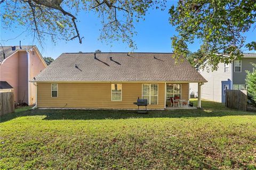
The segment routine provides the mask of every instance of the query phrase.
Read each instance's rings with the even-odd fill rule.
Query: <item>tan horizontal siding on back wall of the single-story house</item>
[[[58,98],[51,98],[51,83],[38,83],[37,104],[39,108],[135,109],[141,88],[142,83],[122,83],[122,101],[114,102],[111,83],[58,83]],[[148,108],[164,108],[164,83],[158,83],[158,104]]]

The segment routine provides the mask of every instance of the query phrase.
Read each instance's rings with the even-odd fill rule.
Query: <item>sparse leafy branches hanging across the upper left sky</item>
[[[100,40],[107,43],[122,40],[135,48],[132,40],[137,34],[134,22],[144,19],[150,7],[164,7],[164,1],[144,0],[2,0],[2,26],[27,28],[37,41],[42,44],[46,36],[53,42],[78,39],[86,41],[77,25],[79,12],[93,11],[101,19]],[[90,27],[90,25],[87,25]]]

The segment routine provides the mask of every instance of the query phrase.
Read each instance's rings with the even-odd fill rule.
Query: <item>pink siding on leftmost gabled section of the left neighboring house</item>
[[[18,102],[18,52],[10,56],[3,63],[0,62],[0,80],[8,82],[13,88],[14,101]]]

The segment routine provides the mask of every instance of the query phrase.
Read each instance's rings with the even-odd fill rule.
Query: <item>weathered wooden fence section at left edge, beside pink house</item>
[[[13,92],[0,92],[0,116],[14,112]]]

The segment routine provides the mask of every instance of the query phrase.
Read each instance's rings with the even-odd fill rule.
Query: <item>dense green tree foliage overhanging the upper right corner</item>
[[[207,59],[213,69],[219,62],[241,59],[245,47],[256,50],[256,42],[245,44],[244,35],[256,21],[255,0],[184,0],[172,6],[169,13],[170,23],[179,33],[172,37],[176,58],[189,54],[188,44],[196,39],[204,54],[197,62]]]

